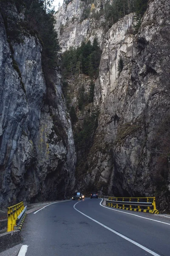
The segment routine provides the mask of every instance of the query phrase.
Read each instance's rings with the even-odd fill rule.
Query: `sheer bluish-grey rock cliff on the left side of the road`
[[[76,155],[61,75],[56,69],[46,83],[36,33],[22,28],[20,40],[9,40],[25,18],[24,6],[17,7],[14,1],[0,4],[1,207],[64,198],[75,183]]]

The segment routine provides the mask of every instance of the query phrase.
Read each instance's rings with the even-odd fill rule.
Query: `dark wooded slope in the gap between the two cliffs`
[[[90,119],[94,116],[93,113],[91,115],[90,112],[94,101],[94,82],[99,74],[100,57],[101,51],[96,38],[93,44],[91,44],[90,41],[88,41],[87,44],[83,42],[81,47],[77,49],[71,48],[62,55],[61,71],[63,91],[73,128],[77,125],[77,121],[79,120],[77,113],[80,115],[81,112],[81,119],[85,119],[84,122],[86,122],[89,116],[91,116]],[[88,108],[89,112],[85,114],[85,112],[87,112],[85,108],[89,103],[92,103],[91,107]],[[88,121],[90,126],[91,121]],[[85,123],[80,125],[81,128],[76,128],[78,140],[80,140],[80,137],[84,140],[85,131],[83,131],[84,128],[82,128],[84,125]],[[93,129],[91,131],[93,131]],[[84,135],[82,136],[82,134]],[[89,136],[91,136],[90,134],[91,133],[89,133]]]

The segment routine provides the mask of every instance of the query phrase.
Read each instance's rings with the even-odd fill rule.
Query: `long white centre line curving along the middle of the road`
[[[76,204],[78,204],[78,203],[79,203],[79,202],[77,202]],[[138,247],[140,247],[141,249],[145,250],[147,253],[150,253],[150,254],[152,254],[153,256],[160,256],[159,254],[154,253],[153,251],[147,249],[147,248],[144,247],[143,245],[138,244],[138,243],[136,243],[135,241],[129,239],[128,237],[123,236],[122,234],[120,234],[120,233],[116,232],[115,230],[111,229],[110,227],[105,226],[105,225],[102,224],[101,222],[96,221],[95,219],[91,218],[90,216],[86,215],[85,213],[80,212],[78,209],[76,209],[76,207],[75,207],[76,204],[74,204],[74,209],[75,209],[77,212],[79,212],[79,213],[81,213],[82,215],[84,215],[85,217],[91,219],[92,221],[96,222],[97,224],[101,225],[102,227],[105,227],[106,229],[108,229],[108,230],[110,230],[111,232],[115,233],[117,236],[120,236],[120,237],[122,237],[123,239],[129,241],[130,243],[135,244],[136,246],[138,246]],[[107,208],[107,207],[106,207],[106,208]]]

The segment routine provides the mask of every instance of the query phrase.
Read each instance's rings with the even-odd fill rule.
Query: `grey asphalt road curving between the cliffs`
[[[169,218],[115,211],[101,200],[60,202],[27,215],[26,256],[170,256]]]

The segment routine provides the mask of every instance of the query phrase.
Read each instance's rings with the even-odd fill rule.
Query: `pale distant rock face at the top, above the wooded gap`
[[[106,1],[103,1],[103,4]],[[105,35],[105,20],[95,20],[93,12],[99,11],[99,1],[94,2],[94,11],[92,4],[85,4],[84,1],[74,0],[68,5],[63,3],[57,13],[55,29],[58,33],[61,51],[70,47],[79,47],[82,41],[93,41],[96,37],[99,44],[102,44]],[[85,18],[84,12],[89,9],[89,17]]]

